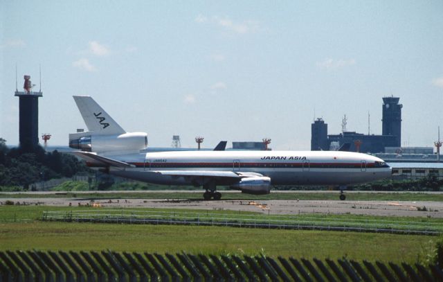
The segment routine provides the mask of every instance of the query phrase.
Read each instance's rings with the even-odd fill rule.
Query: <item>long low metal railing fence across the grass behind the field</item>
[[[316,218],[297,215],[237,215],[229,213],[137,211],[105,209],[84,211],[44,211],[42,220],[62,222],[101,222],[127,224],[181,224],[265,229],[307,229],[440,235],[443,224],[403,220]]]

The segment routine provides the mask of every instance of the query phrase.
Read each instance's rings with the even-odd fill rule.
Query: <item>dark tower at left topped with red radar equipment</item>
[[[30,76],[24,76],[23,89],[15,89],[15,96],[19,97],[19,139],[20,148],[25,152],[32,152],[39,144],[39,98],[43,96],[42,89],[33,91]]]

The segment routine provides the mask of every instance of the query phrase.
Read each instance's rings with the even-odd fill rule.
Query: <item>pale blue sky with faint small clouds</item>
[[[23,75],[38,84],[39,132],[65,145],[89,95],[150,146],[272,139],[309,150],[329,134],[381,134],[399,96],[402,144],[432,146],[442,124],[443,1],[0,0],[0,137],[18,143]],[[37,82],[37,83],[36,83]],[[443,128],[442,128],[443,130]],[[230,143],[229,143],[230,144]]]

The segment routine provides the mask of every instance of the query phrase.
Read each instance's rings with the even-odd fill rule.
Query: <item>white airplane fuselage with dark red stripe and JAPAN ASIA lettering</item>
[[[390,177],[383,160],[341,151],[188,151],[118,155],[134,168],[113,168],[109,173],[144,182],[190,185],[190,177],[162,175],[165,171],[227,171],[257,173],[273,185],[350,185]],[[217,179],[217,177],[215,177]],[[217,185],[230,185],[216,180]]]

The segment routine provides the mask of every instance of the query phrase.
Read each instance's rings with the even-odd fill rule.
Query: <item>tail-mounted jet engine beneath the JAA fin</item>
[[[147,147],[147,134],[128,132],[120,135],[78,136],[78,138],[70,138],[69,147],[86,152],[138,151]]]

